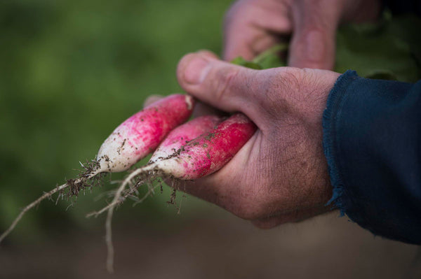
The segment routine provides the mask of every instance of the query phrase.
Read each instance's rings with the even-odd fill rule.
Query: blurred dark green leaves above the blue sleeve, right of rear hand
[[[421,19],[385,17],[377,24],[349,24],[338,31],[335,71],[366,78],[415,82],[421,78]]]

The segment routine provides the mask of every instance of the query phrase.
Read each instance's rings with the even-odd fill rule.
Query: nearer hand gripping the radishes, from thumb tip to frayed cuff
[[[262,228],[329,210],[321,121],[339,73],[257,71],[203,51],[183,57],[177,73],[189,94],[220,110],[244,113],[258,131],[220,171],[175,187]]]

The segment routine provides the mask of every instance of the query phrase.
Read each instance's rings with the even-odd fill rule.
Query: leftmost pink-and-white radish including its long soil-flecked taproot
[[[1,234],[0,243],[28,210],[44,199],[66,188],[69,188],[69,196],[77,196],[81,189],[92,186],[90,180],[98,174],[125,171],[146,157],[172,129],[192,115],[193,106],[192,96],[173,94],[129,117],[102,143],[97,159],[86,166],[82,164],[86,171],[79,178],[67,180],[67,183],[55,187],[23,208],[11,226]]]

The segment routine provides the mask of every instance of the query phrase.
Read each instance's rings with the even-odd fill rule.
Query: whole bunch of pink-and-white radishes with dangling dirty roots
[[[191,96],[173,94],[128,118],[102,143],[96,159],[86,166],[85,173],[75,180],[67,180],[64,185],[56,187],[25,207],[11,227],[0,236],[0,242],[13,230],[27,210],[52,194],[68,189],[69,195],[77,195],[81,189],[90,186],[100,173],[126,171],[155,150],[147,165],[135,169],[123,180],[112,203],[93,213],[98,215],[108,212],[107,268],[112,271],[111,220],[116,205],[145,181],[158,177],[194,180],[218,171],[255,132],[255,124],[241,113],[225,119],[207,115],[183,124],[192,115],[193,108],[194,99]],[[131,185],[131,189],[125,192],[127,185]],[[126,194],[122,195],[123,193]]]

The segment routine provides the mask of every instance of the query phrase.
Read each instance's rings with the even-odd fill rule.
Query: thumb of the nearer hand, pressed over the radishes
[[[223,62],[208,52],[182,57],[177,68],[180,86],[189,94],[215,108],[229,112],[254,106],[250,85],[257,71]]]

